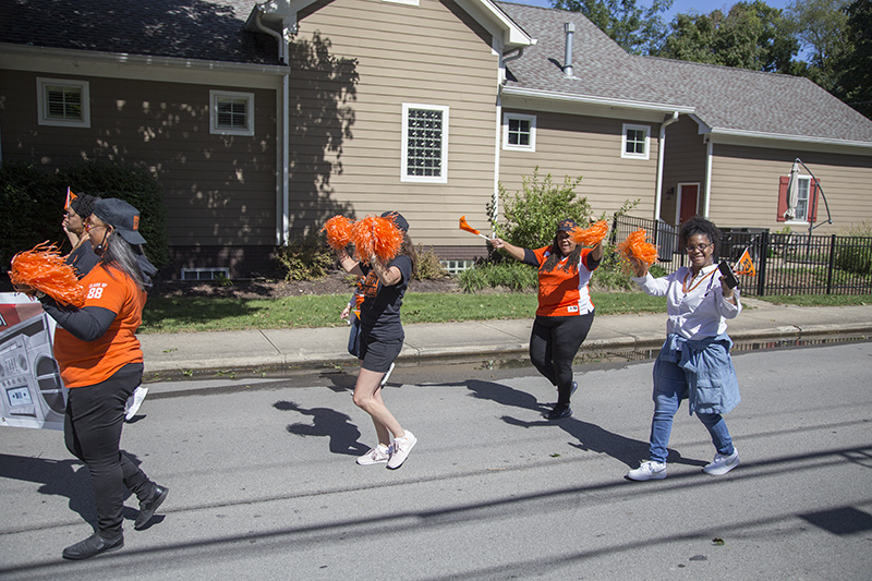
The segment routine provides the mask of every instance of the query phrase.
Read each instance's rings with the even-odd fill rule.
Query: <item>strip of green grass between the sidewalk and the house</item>
[[[597,315],[665,313],[666,299],[642,292],[594,292]],[[242,329],[336,327],[349,294],[286,299],[152,298],[138,332],[194,332]],[[447,323],[532,318],[534,293],[459,294],[410,292],[403,299],[402,320]]]

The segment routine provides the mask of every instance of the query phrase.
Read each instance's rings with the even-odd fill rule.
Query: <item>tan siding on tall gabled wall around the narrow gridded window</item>
[[[483,215],[494,191],[498,57],[489,36],[450,1],[336,0],[300,23],[290,78],[294,232],[339,213],[396,209],[415,242],[470,244],[457,219]],[[339,82],[325,84],[315,48],[344,62],[334,69]],[[404,102],[449,108],[447,183],[400,181]]]

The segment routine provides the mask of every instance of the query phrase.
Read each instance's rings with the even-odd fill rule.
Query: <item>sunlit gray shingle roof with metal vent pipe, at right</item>
[[[716,131],[872,144],[872,121],[808,78],[632,56],[577,12],[497,3],[537,40],[507,64],[507,87],[693,107]],[[566,22],[576,24],[569,78]]]

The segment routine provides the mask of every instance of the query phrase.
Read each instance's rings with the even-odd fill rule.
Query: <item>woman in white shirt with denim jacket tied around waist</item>
[[[627,474],[635,481],[666,477],[666,446],[683,398],[688,398],[690,413],[708,429],[716,449],[703,472],[719,476],[739,464],[739,452],[722,416],[740,399],[729,356],[732,341],[726,332],[726,319],[742,310],[739,293],[725,283],[715,264],[720,231],[714,223],[694,216],[681,225],[678,238],[690,266],[655,279],[647,271],[651,265],[630,261],[637,275],[633,281],[652,296],[666,296],[669,316],[666,342],[654,363],[650,457]]]

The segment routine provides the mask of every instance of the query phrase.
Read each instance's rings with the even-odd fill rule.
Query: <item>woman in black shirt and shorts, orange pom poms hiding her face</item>
[[[358,458],[361,465],[387,462],[396,470],[409,457],[417,438],[403,429],[382,399],[383,379],[400,354],[405,335],[400,322],[400,306],[412,279],[417,255],[409,238],[409,222],[399,213],[386,211],[383,219],[365,218],[356,222],[354,242],[358,259],[346,249],[338,249],[342,268],[365,277],[362,283],[359,359],[361,370],[354,385],[354,403],[370,414],[378,436],[376,447]],[[390,220],[390,221],[387,221]],[[383,223],[384,222],[384,223]],[[356,226],[355,225],[355,226]],[[385,228],[393,231],[384,231]],[[397,237],[398,249],[393,249]],[[391,439],[392,434],[392,439]]]

